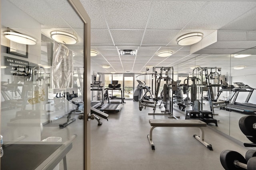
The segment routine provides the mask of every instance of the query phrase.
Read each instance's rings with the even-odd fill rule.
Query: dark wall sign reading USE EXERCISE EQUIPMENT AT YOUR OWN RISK
[[[6,68],[5,74],[7,75],[18,75],[18,76],[25,76],[25,67],[29,66],[28,61],[14,59],[11,57],[5,56],[5,62],[4,62]]]

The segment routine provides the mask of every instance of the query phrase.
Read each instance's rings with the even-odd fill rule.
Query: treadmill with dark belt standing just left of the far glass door
[[[102,107],[100,108],[100,111],[115,111],[118,112],[120,111],[122,104],[125,103],[124,102],[124,98],[123,98],[123,93],[122,93],[122,89],[120,88],[121,84],[118,84],[118,80],[112,80],[112,84],[108,84],[108,88],[105,88],[106,90],[106,96],[108,98],[108,103],[102,105]],[[115,99],[120,99],[120,100],[109,100],[109,95],[108,95],[108,91],[111,90],[112,93],[114,90],[118,90],[121,92],[121,98],[117,98],[115,97]]]

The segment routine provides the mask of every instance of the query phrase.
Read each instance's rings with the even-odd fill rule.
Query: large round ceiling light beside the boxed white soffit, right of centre
[[[177,39],[178,45],[186,46],[186,45],[192,45],[195,43],[198,43],[203,39],[203,33],[194,32],[194,33],[188,33],[184,34]]]

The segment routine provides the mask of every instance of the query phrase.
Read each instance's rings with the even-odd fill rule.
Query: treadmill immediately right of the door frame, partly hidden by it
[[[97,108],[100,107],[102,104],[104,104],[104,98],[103,98],[103,87],[104,84],[102,84],[102,81],[94,81],[93,84],[91,84],[91,91],[101,91],[101,99],[102,100],[92,100],[91,107]],[[99,96],[99,94],[97,95]]]

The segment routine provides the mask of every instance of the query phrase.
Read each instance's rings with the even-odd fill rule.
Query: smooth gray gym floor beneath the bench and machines
[[[108,121],[101,119],[101,126],[96,120],[91,121],[91,170],[222,170],[222,150],[235,150],[245,155],[251,149],[211,127],[205,127],[204,131],[205,141],[212,145],[212,151],[194,139],[194,134],[199,135],[198,128],[157,127],[153,131],[156,150],[151,150],[147,139],[150,130],[148,120],[170,118],[168,115],[148,113],[152,113],[152,108],[139,111],[138,102],[126,100],[120,112],[109,113]],[[156,113],[160,113],[159,108]],[[174,115],[185,119],[185,115],[178,111],[174,111]],[[64,129],[59,129],[57,126],[61,121],[65,119],[44,125],[42,139],[51,134],[66,141],[77,134],[74,146],[67,154],[67,162],[69,170],[80,170],[82,121],[77,119]]]

